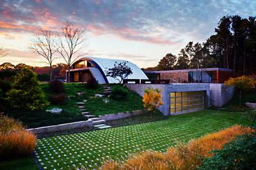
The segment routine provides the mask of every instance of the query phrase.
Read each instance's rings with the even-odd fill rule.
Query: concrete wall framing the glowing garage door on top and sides
[[[148,87],[152,89],[161,89],[163,105],[159,107],[159,111],[163,115],[170,115],[170,93],[171,92],[191,92],[205,91],[205,108],[210,106],[210,85],[208,83],[173,83],[173,84],[125,84],[125,86],[137,92],[143,97],[144,90]]]

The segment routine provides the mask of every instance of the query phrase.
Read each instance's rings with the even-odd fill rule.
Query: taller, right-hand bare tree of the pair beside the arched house
[[[86,29],[83,29],[78,25],[74,25],[72,22],[66,21],[63,23],[61,31],[58,32],[58,39],[60,43],[58,52],[68,65],[67,82],[70,81],[70,67],[72,64],[74,64],[79,57],[86,54],[83,53],[82,55],[79,55],[78,53],[86,46],[85,31]]]

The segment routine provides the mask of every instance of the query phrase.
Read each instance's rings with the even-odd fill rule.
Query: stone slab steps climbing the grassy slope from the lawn
[[[108,90],[107,90],[108,91]],[[106,92],[106,91],[104,91]],[[79,92],[77,93],[79,96],[83,96],[84,92]],[[90,112],[88,112],[84,106],[84,104],[86,103],[87,100],[83,100],[83,102],[77,102],[77,106],[79,107],[81,113],[84,115],[84,117],[88,118],[88,120],[92,121],[92,125],[93,127],[97,127],[99,129],[105,129],[105,128],[109,128],[111,127],[110,125],[105,125],[104,123],[106,122],[106,120],[103,120],[101,118],[99,118],[96,115],[92,115]]]

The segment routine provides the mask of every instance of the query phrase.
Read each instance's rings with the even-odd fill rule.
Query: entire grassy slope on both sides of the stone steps
[[[49,98],[51,92],[47,83],[41,83],[41,88],[45,92],[45,97]],[[108,96],[94,97],[95,94],[103,92],[103,87],[99,86],[97,89],[87,89],[82,83],[65,83],[65,95],[71,97],[72,100],[66,100],[61,105],[47,106],[44,110],[52,108],[62,108],[61,115],[54,115],[41,111],[28,110],[8,110],[8,116],[19,119],[28,128],[42,127],[46,125],[64,124],[68,122],[76,122],[86,120],[81,111],[77,107],[77,102],[83,99],[88,99],[85,104],[86,109],[93,115],[104,115],[109,113],[118,113],[124,111],[142,110],[143,103],[141,97],[135,92],[129,92],[127,99],[124,101],[115,101]],[[83,96],[77,96],[77,92],[85,92]],[[108,98],[109,103],[104,103],[103,99]]]

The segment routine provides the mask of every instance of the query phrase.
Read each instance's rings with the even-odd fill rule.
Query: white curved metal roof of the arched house
[[[106,71],[109,68],[114,67],[115,62],[120,63],[120,62],[127,62],[127,66],[131,67],[132,69],[132,74],[128,76],[128,79],[148,79],[146,74],[140,69],[140,67],[136,66],[132,62],[129,62],[127,60],[116,60],[116,59],[102,59],[102,58],[97,58],[97,57],[84,57],[83,59],[88,59],[88,60],[93,60],[96,62],[99,67],[102,69],[106,76]],[[115,78],[111,78],[109,76],[106,77],[108,79],[109,83],[118,83],[118,80],[115,80]]]

